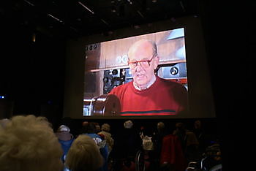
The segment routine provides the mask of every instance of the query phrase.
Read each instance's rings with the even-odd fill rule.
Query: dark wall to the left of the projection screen
[[[61,117],[64,41],[2,16],[1,22],[0,94],[12,102],[12,114]]]

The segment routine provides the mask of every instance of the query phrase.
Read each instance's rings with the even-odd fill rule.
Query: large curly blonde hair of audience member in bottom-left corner
[[[0,170],[61,170],[61,145],[48,121],[16,115],[0,130]]]

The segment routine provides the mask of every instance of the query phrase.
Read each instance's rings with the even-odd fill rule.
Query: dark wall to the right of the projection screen
[[[255,7],[249,1],[201,1],[225,170],[254,167],[248,155],[255,153]]]

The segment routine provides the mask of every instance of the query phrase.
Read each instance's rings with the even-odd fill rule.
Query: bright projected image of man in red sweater
[[[84,116],[187,115],[184,28],[86,45]]]

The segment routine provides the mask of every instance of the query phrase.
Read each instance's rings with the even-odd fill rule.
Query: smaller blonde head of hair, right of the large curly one
[[[65,164],[72,171],[92,171],[102,167],[103,158],[94,140],[80,134],[69,148]]]

